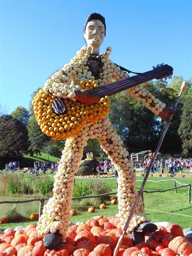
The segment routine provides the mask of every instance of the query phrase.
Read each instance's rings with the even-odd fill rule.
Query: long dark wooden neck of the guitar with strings
[[[127,90],[141,83],[145,83],[152,79],[155,79],[155,78],[159,79],[161,77],[165,77],[165,75],[162,76],[162,72],[160,70],[166,67],[172,68],[168,65],[164,65],[158,69],[150,70],[150,71],[141,73],[139,75],[135,75],[132,77],[128,77],[126,79],[122,79],[120,81],[116,81],[114,83],[109,83],[108,85],[105,85],[103,87],[98,87],[96,89],[93,89],[94,95],[100,96],[100,97],[104,97],[106,95],[111,96],[113,94],[116,94],[117,92],[122,92],[124,90]],[[158,77],[158,76],[161,76],[161,77]]]

